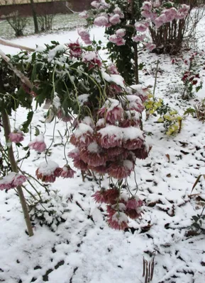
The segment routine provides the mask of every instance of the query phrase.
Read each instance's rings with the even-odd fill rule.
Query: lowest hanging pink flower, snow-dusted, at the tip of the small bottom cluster
[[[116,212],[109,217],[108,224],[112,229],[125,230],[128,228],[128,217],[123,212]]]

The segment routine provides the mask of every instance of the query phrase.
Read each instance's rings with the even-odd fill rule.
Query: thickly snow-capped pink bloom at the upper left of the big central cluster
[[[70,142],[74,146],[89,146],[94,141],[93,129],[89,125],[79,123],[79,127],[70,137]]]

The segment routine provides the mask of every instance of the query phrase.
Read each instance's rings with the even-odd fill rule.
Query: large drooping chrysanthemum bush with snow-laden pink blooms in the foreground
[[[87,37],[86,33],[83,35]],[[68,156],[74,167],[83,174],[92,171],[97,178],[105,174],[109,177],[109,187],[99,187],[94,199],[99,202],[96,196],[101,195],[100,202],[107,204],[111,227],[128,227],[128,217],[138,218],[143,204],[132,195],[128,177],[134,173],[137,159],[146,158],[150,150],[141,120],[148,88],[127,86],[116,66],[105,65],[92,46],[83,47],[78,41],[65,45],[52,42],[30,54],[21,52],[11,57],[11,64],[31,79],[32,88],[22,84],[18,89],[35,100],[36,108],[50,100],[45,122],[53,124],[52,142],[46,145],[43,134],[35,128],[36,136],[28,144],[30,149],[45,154],[45,161],[35,171],[38,180],[54,183],[56,178],[74,177],[68,163],[60,166],[48,156],[57,119],[65,122],[65,129],[69,123],[74,150]],[[31,120],[28,116],[21,129],[13,132],[13,142],[22,139],[20,131],[29,132]],[[67,142],[68,134],[62,149],[65,153]]]

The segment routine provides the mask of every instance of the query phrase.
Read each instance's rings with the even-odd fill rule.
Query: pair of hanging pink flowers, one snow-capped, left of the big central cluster
[[[45,183],[54,183],[58,177],[74,178],[74,173],[76,172],[69,165],[60,168],[55,161],[40,163],[35,171],[36,177]]]

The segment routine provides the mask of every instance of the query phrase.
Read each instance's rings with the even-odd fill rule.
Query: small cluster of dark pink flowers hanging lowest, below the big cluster
[[[136,196],[121,195],[117,188],[101,189],[95,192],[92,197],[100,204],[107,204],[107,221],[113,229],[124,230],[128,228],[128,217],[136,219],[141,215],[143,202]]]

